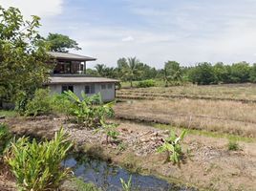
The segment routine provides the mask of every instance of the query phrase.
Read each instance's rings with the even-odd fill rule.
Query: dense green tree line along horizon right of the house
[[[107,67],[97,64],[95,69],[88,69],[87,74],[117,78],[121,81],[133,81],[146,79],[159,79],[165,82],[165,86],[178,85],[182,82],[192,82],[199,85],[220,83],[245,83],[256,82],[256,64],[247,62],[224,65],[222,62],[211,64],[198,63],[193,67],[182,67],[176,61],[167,61],[163,69],[156,69],[139,62],[136,57],[119,58],[117,67]]]

